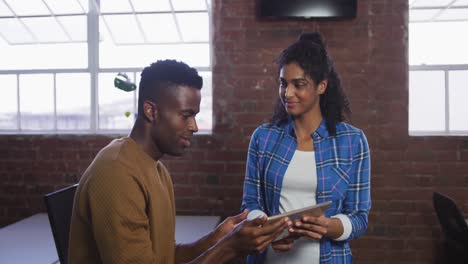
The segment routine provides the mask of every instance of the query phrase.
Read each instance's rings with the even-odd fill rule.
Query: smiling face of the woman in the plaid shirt
[[[320,95],[327,88],[326,80],[315,85],[297,63],[290,63],[281,68],[279,82],[279,96],[286,112],[293,117],[320,113]]]

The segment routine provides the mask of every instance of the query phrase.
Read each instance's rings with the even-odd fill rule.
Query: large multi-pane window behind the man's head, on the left
[[[176,59],[203,77],[212,128],[210,0],[0,0],[0,133],[127,133],[138,92],[118,73]]]

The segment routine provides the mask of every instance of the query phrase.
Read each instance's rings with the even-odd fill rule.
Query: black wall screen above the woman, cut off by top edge
[[[259,0],[262,18],[354,18],[357,0]]]

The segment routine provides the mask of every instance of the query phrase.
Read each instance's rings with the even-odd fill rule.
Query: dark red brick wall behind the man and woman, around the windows
[[[318,30],[372,151],[369,229],[357,263],[435,263],[441,234],[432,192],[468,212],[468,138],[408,136],[407,0],[359,0],[347,21],[258,21],[255,1],[214,0],[214,131],[166,158],[180,214],[238,212],[249,136],[276,99],[273,64],[299,33]],[[0,136],[0,226],[44,211],[42,195],[75,183],[104,136]],[[442,261],[443,262],[443,261]]]

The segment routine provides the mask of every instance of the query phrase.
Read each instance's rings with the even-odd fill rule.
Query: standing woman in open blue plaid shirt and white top
[[[367,139],[343,122],[348,99],[319,33],[301,35],[278,66],[278,106],[252,135],[242,209],[253,218],[332,205],[248,263],[352,263],[348,242],[367,229],[371,207]]]

